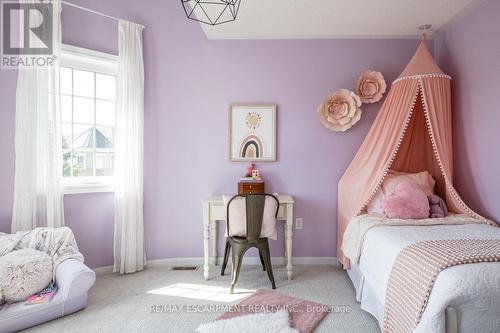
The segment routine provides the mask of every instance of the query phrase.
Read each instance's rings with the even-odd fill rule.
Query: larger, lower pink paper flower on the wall
[[[318,107],[318,116],[326,128],[345,132],[361,119],[361,100],[347,89],[339,89]]]

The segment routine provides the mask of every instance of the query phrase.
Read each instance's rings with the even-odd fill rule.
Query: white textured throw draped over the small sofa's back
[[[72,258],[83,262],[83,255],[78,250],[75,236],[68,227],[36,228],[15,234],[0,232],[0,257],[26,248],[43,251],[51,256],[54,262],[54,272],[57,265],[66,259]]]

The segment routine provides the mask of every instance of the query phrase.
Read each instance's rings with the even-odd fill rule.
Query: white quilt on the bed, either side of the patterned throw
[[[359,265],[350,272],[351,278],[356,273],[362,275],[359,281],[353,279],[362,308],[382,326],[381,308],[398,253],[419,241],[451,238],[500,239],[500,228],[465,224],[380,226],[369,230]],[[500,332],[500,263],[458,265],[442,271],[416,332],[445,332],[444,311],[448,306],[457,312],[459,332]]]

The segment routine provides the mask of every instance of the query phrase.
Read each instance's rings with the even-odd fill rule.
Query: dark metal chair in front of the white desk
[[[240,197],[245,198],[246,201],[246,237],[231,236],[229,229],[229,207],[234,199]],[[231,289],[229,291],[231,294],[234,292],[234,286],[236,285],[238,275],[240,274],[243,255],[252,247],[256,247],[259,250],[259,257],[263,270],[267,271],[272,287],[273,289],[276,289],[273,268],[271,265],[271,254],[269,252],[269,241],[265,237],[260,237],[266,197],[271,197],[276,201],[276,212],[274,214],[274,217],[276,218],[278,216],[279,201],[278,198],[272,194],[237,194],[232,197],[227,204],[226,224],[228,236],[226,239],[226,248],[224,250],[224,262],[222,263],[221,275],[224,275],[224,270],[226,269],[227,261],[229,259],[229,252],[232,250],[233,266],[231,272]]]

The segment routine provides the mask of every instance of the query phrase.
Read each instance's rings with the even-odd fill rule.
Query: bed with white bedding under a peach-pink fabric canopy
[[[423,35],[338,183],[337,258],[349,269],[362,308],[389,332],[500,332],[500,228],[473,211],[454,187],[452,132],[451,77],[439,68]],[[362,237],[346,242],[353,222],[373,222],[364,213],[374,212],[369,206],[380,193],[387,206],[386,195],[395,193],[384,189],[391,171],[428,173],[435,184],[427,189],[418,183],[427,199],[436,195],[447,212],[469,222],[458,221],[458,215],[443,217],[445,223],[390,220],[358,228]],[[389,203],[398,203],[393,199]],[[419,214],[398,215],[385,208],[382,213],[426,215],[421,193],[406,199],[419,203]],[[439,216],[446,215],[443,210]],[[463,264],[486,260],[491,262]]]

